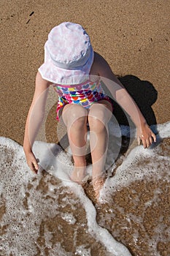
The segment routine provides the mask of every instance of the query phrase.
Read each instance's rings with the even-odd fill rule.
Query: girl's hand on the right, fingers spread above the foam
[[[144,124],[141,127],[137,128],[137,140],[140,145],[141,140],[144,148],[149,148],[152,142],[156,142],[156,136],[148,126],[148,124]]]

